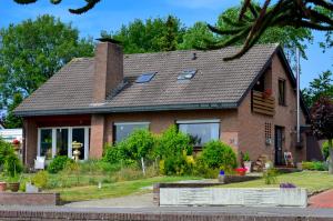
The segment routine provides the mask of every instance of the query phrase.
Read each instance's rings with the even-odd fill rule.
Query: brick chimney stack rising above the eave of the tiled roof
[[[101,103],[123,80],[121,46],[111,39],[99,39],[94,52],[93,101]]]

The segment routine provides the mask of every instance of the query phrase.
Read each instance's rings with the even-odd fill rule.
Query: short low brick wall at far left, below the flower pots
[[[59,205],[59,193],[0,192],[1,205]]]

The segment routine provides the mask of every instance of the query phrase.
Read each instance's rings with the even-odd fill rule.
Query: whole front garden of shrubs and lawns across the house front
[[[105,144],[100,160],[75,162],[67,157],[56,157],[46,170],[29,173],[17,157],[11,143],[0,140],[0,183],[2,191],[26,191],[32,184],[43,192],[60,192],[65,202],[103,198],[117,198],[132,193],[147,193],[159,182],[178,182],[216,179],[221,171],[235,174],[249,161],[241,154],[238,163],[235,152],[221,141],[210,141],[201,152],[193,152],[195,138],[170,127],[162,134],[135,130],[125,140],[113,145]],[[325,151],[325,149],[324,149]],[[238,168],[238,165],[241,168]],[[243,167],[242,167],[243,165]],[[311,192],[333,188],[325,162],[303,162],[303,172],[281,174],[270,168],[259,180],[221,185],[226,187],[279,187],[295,185]]]

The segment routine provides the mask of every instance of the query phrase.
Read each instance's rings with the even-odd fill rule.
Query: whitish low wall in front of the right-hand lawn
[[[161,188],[160,205],[307,205],[305,189],[300,188]]]

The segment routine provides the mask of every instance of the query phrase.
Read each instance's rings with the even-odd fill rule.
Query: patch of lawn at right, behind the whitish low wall
[[[333,175],[322,171],[302,171],[285,173],[278,177],[278,184],[268,185],[263,179],[248,182],[231,183],[221,185],[221,188],[274,188],[279,183],[291,182],[296,187],[306,188],[309,193],[333,189]]]

